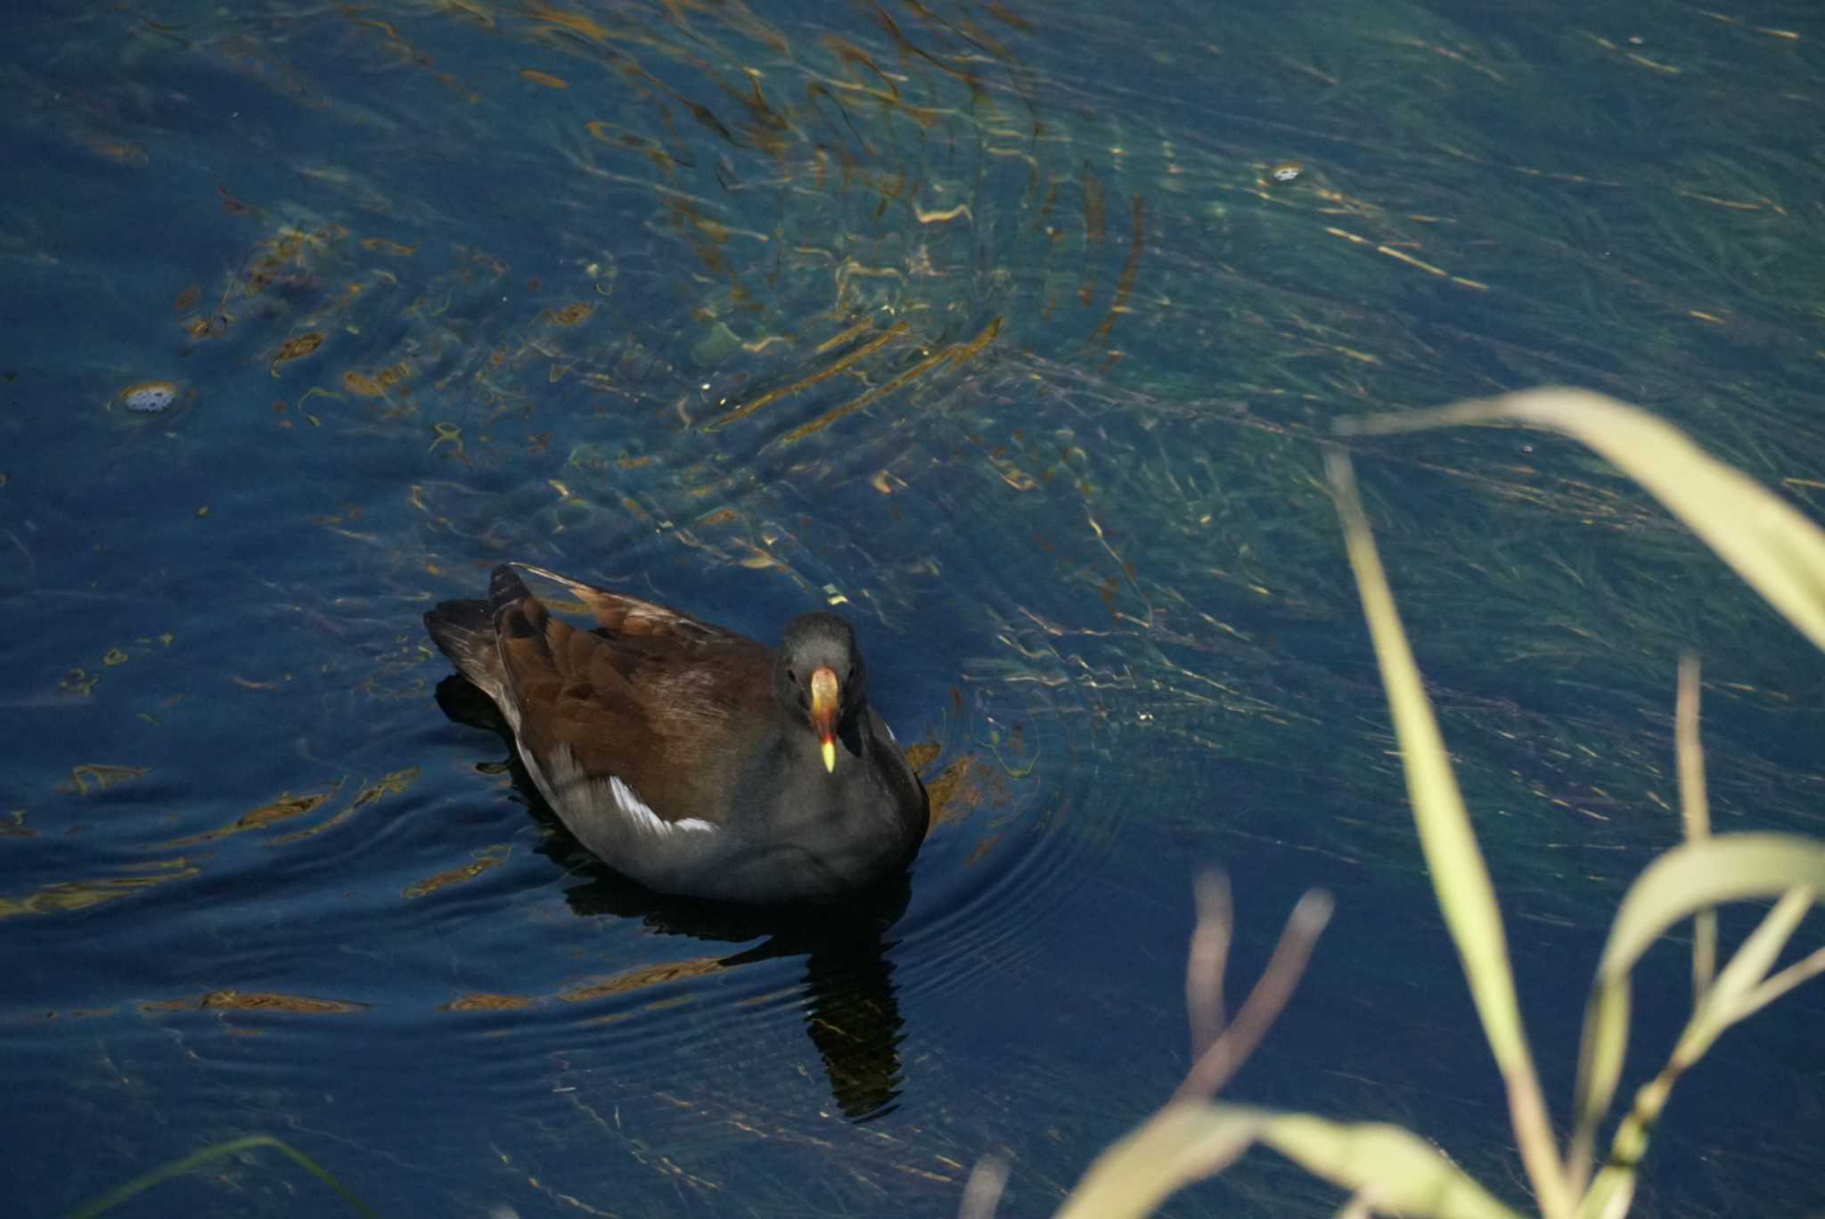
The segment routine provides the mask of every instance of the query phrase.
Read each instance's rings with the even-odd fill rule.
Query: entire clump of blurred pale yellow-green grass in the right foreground
[[[1350,420],[1343,431],[1363,434],[1496,422],[1568,432],[1615,462],[1736,568],[1770,606],[1825,648],[1825,533],[1754,480],[1708,456],[1684,432],[1637,407],[1584,391],[1542,389],[1444,411]],[[1648,1133],[1679,1075],[1726,1027],[1825,973],[1825,947],[1770,973],[1799,920],[1825,891],[1825,843],[1796,834],[1710,834],[1697,743],[1697,662],[1686,657],[1681,662],[1675,732],[1686,841],[1659,856],[1630,885],[1610,927],[1586,1004],[1575,1124],[1568,1146],[1560,1148],[1528,1049],[1495,887],[1394,610],[1354,473],[1341,451],[1327,454],[1327,467],[1400,737],[1420,845],[1484,1037],[1507,1088],[1509,1119],[1535,1204],[1546,1219],[1619,1219],[1633,1201]],[[1717,969],[1716,907],[1763,898],[1776,898],[1772,909]],[[1318,934],[1321,918],[1314,922],[1309,901],[1312,898],[1301,901],[1288,920],[1281,949],[1236,1024],[1212,1038],[1212,996],[1217,995],[1228,945],[1228,909],[1226,900],[1212,903],[1201,896],[1186,973],[1194,1047],[1206,1037],[1212,1038],[1210,1049],[1199,1053],[1164,1108],[1097,1157],[1060,1215],[1150,1214],[1173,1190],[1221,1172],[1256,1142],[1350,1190],[1352,1199],[1340,1212],[1343,1215],[1398,1212],[1440,1219],[1511,1219],[1517,1214],[1440,1150],[1400,1126],[1332,1122],[1309,1113],[1212,1100],[1239,1064],[1236,1055],[1246,1055],[1259,1040],[1259,1029],[1245,1033],[1250,1009],[1270,1020],[1296,982],[1299,965],[1290,965],[1290,974],[1281,965],[1288,940],[1303,945],[1298,951],[1303,962],[1303,951]],[[1666,1066],[1635,1093],[1608,1157],[1597,1168],[1597,1128],[1615,1100],[1628,1047],[1630,973],[1650,943],[1686,918],[1697,920],[1692,1016]],[[1270,991],[1276,1002],[1257,1005],[1263,991]],[[1206,1066],[1212,1055],[1225,1058],[1225,1069]],[[993,1212],[1000,1173],[1004,1170],[996,1166],[978,1168],[965,1195],[965,1215],[975,1219]]]

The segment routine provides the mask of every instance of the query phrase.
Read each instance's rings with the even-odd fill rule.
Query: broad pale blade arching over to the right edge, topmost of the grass
[[[1705,538],[1807,639],[1825,648],[1825,533],[1759,482],[1639,407],[1584,389],[1529,389],[1438,411],[1343,420],[1340,431],[1403,432],[1509,422],[1566,432],[1606,456]]]

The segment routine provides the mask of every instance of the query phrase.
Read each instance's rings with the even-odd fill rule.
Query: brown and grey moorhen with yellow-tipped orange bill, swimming
[[[577,839],[661,892],[840,898],[912,861],[925,788],[869,706],[847,620],[801,613],[777,648],[520,564],[595,617],[579,630],[495,568],[487,600],[425,613],[433,642],[513,730]]]

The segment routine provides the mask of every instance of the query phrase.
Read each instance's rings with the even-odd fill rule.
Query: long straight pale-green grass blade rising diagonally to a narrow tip
[[[1489,869],[1476,847],[1476,834],[1471,830],[1451,757],[1438,734],[1433,704],[1425,697],[1407,633],[1400,626],[1394,595],[1387,588],[1387,575],[1382,571],[1382,558],[1376,555],[1374,537],[1369,533],[1369,520],[1356,495],[1350,462],[1343,453],[1332,451],[1325,465],[1338,516],[1343,520],[1343,540],[1361,593],[1363,617],[1369,620],[1376,661],[1382,666],[1382,686],[1394,715],[1407,797],[1420,827],[1420,847],[1433,876],[1433,889],[1438,892],[1438,907],[1464,962],[1464,974],[1469,980],[1471,998],[1476,1000],[1476,1015],[1482,1018],[1489,1049],[1502,1069],[1509,1117],[1540,1212],[1546,1219],[1564,1219],[1571,1215],[1575,1199],[1564,1162],[1559,1159],[1540,1077],[1533,1068],[1528,1035],[1520,1024],[1515,976],[1507,964],[1507,936],[1502,931],[1502,911],[1489,883]]]

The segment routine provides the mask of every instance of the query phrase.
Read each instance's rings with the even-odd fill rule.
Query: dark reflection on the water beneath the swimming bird
[[[756,907],[697,898],[675,898],[620,876],[588,850],[557,819],[513,750],[513,737],[495,704],[460,675],[438,682],[438,706],[453,721],[491,728],[507,741],[515,787],[548,834],[538,852],[584,883],[564,891],[580,918],[637,918],[659,934],[754,947],[717,962],[723,969],[756,962],[805,958],[805,1031],[823,1058],[830,1095],[850,1120],[891,1111],[900,1095],[900,1040],[903,1022],[894,998],[894,965],[885,938],[907,909],[912,887],[905,876],[881,880],[840,903],[812,907]]]

